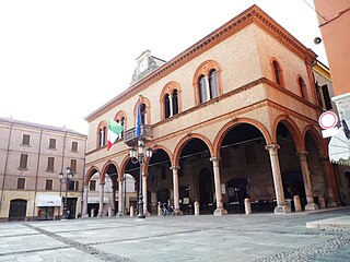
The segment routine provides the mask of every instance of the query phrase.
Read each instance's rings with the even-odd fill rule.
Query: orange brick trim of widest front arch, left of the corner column
[[[228,132],[231,129],[233,129],[234,127],[242,124],[242,123],[248,123],[248,124],[254,126],[262,133],[264,139],[266,141],[266,144],[272,143],[270,133],[268,132],[268,130],[265,128],[265,126],[261,122],[254,120],[254,119],[249,119],[249,118],[240,118],[240,119],[235,119],[234,121],[231,120],[230,122],[225,123],[220,129],[220,131],[218,132],[217,138],[214,140],[214,143],[213,143],[213,152],[214,152],[213,156],[220,157],[220,146],[221,146],[221,143],[222,143],[224,136],[228,134]]]

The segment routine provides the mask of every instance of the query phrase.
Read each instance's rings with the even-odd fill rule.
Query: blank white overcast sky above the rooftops
[[[88,134],[144,50],[168,61],[254,3],[328,64],[313,0],[0,1],[0,117]]]

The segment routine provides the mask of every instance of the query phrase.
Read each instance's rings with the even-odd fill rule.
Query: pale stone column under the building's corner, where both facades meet
[[[285,199],[284,199],[282,176],[281,176],[280,163],[279,163],[278,153],[277,153],[280,146],[278,144],[269,144],[269,145],[266,145],[265,148],[269,152],[270,162],[271,162],[275,192],[276,192],[276,199],[277,199],[277,206],[275,207],[275,214],[285,214],[288,212],[291,212],[291,210],[290,207],[287,206]]]

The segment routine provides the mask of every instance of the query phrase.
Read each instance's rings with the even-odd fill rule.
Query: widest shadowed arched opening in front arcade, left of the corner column
[[[220,144],[221,182],[224,209],[243,213],[244,199],[252,201],[253,212],[272,212],[275,186],[268,151],[261,131],[250,123],[233,124]]]

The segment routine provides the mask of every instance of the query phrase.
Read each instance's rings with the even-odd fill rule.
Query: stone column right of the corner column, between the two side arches
[[[318,210],[317,204],[315,204],[314,202],[313,186],[311,182],[311,176],[307,167],[306,155],[307,155],[306,151],[302,151],[298,153],[300,166],[302,168],[304,188],[305,188],[305,194],[306,194],[306,201],[307,201],[307,204],[305,205],[305,211]]]

